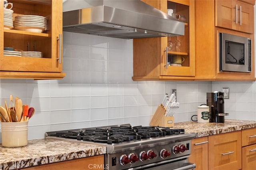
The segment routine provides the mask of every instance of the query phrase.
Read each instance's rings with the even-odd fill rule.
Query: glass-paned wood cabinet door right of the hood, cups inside
[[[167,14],[184,22],[184,36],[167,38],[166,47],[162,46],[162,75],[194,76],[194,1],[167,1]]]

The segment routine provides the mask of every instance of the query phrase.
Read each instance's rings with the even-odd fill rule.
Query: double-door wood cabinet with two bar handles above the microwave
[[[236,31],[254,32],[254,7],[238,0],[216,0],[215,26]]]

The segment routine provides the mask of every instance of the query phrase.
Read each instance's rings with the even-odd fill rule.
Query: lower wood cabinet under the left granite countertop
[[[22,168],[22,170],[103,170],[104,155],[90,156],[74,160],[67,160],[40,166]]]

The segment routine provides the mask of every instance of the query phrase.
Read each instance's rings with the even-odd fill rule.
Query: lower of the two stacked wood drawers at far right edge
[[[242,148],[242,169],[256,169],[256,144]]]

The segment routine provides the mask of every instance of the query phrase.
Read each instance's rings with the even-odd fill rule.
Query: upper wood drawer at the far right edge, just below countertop
[[[256,128],[242,130],[242,146],[256,144]]]

